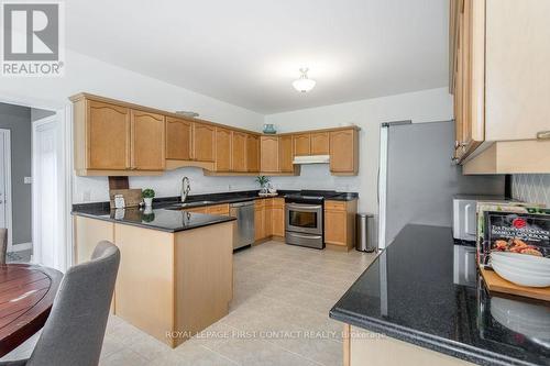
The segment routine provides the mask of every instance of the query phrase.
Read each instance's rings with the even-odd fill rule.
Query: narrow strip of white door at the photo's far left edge
[[[11,232],[11,151],[10,130],[0,129],[0,228],[8,229],[8,251]]]

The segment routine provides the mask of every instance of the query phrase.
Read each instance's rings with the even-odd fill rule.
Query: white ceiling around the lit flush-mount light
[[[447,86],[448,7],[449,0],[72,0],[66,42],[271,114]],[[317,80],[309,93],[292,87],[302,66]]]

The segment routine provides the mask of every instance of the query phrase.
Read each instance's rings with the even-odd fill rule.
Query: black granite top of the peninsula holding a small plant
[[[72,213],[74,215],[158,230],[168,233],[237,220],[231,217],[165,209],[154,209],[150,212],[138,208],[110,210],[107,207],[90,207],[73,210]]]

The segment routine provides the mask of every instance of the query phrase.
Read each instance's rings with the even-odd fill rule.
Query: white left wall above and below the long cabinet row
[[[41,106],[35,107],[42,108],[68,106],[67,98],[81,91],[167,111],[191,110],[206,120],[249,130],[260,131],[263,124],[262,114],[70,51],[66,54],[63,78],[2,78],[0,82],[0,96],[13,100],[40,100]],[[187,173],[178,170],[161,178],[131,178],[130,182],[132,186],[153,187],[158,190],[158,196],[174,196],[178,191],[177,178],[182,171]],[[218,191],[223,187],[227,190],[229,184],[234,189],[255,187],[252,178],[211,178],[193,174],[194,192]],[[109,199],[108,191],[106,177],[75,177],[73,201],[105,201]]]

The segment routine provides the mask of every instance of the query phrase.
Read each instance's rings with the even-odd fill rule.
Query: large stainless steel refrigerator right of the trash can
[[[504,176],[464,176],[452,164],[454,122],[384,123],[378,175],[378,246],[407,223],[452,225],[452,197],[504,195]],[[411,243],[413,244],[413,243]]]

